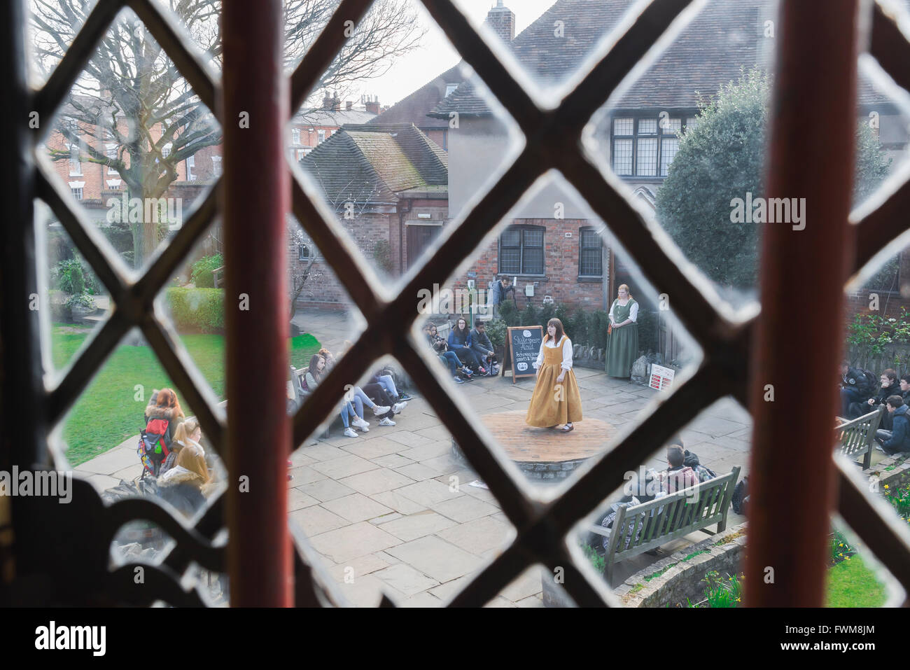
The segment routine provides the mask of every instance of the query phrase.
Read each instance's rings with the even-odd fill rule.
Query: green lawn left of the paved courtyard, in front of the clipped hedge
[[[66,366],[87,336],[87,331],[54,324],[51,345],[57,369]],[[224,336],[183,335],[180,339],[212,391],[224,400]],[[319,340],[309,334],[292,338],[288,342],[291,363],[305,367],[319,346]],[[136,385],[141,388],[137,389]],[[143,414],[149,394],[152,389],[166,386],[174,388],[149,347],[117,347],[66,415],[63,439],[69,445],[66,452],[69,462],[78,465],[89,461],[137,435],[144,428]],[[179,391],[177,396],[187,416],[194,414]]]

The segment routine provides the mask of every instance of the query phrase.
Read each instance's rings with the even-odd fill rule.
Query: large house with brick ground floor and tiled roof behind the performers
[[[632,0],[558,0],[511,40],[511,51],[541,86],[559,84],[632,5]],[[641,76],[612,98],[594,138],[612,170],[646,208],[654,208],[655,195],[679,147],[678,134],[697,123],[699,97],[715,95],[754,66],[770,69],[776,8],[773,0],[714,0]],[[494,11],[503,9],[498,4]],[[562,30],[554,30],[554,25]],[[879,137],[886,151],[894,157],[903,154],[907,135],[895,105],[866,83],[860,87],[859,103],[860,118],[874,114],[879,119]],[[454,213],[480,191],[508,152],[509,139],[470,81],[440,101],[430,116],[447,119],[453,112],[460,117],[460,127],[450,132],[449,139],[450,212]],[[555,218],[555,203],[564,204],[563,219]],[[451,288],[458,289],[470,279],[485,287],[494,276],[517,277],[520,305],[528,288],[533,294],[528,299],[538,306],[551,296],[572,308],[597,309],[609,308],[621,283],[629,283],[636,293],[628,263],[608,243],[601,243],[592,228],[600,222],[588,220],[585,210],[573,189],[544,188]],[[910,284],[910,267],[905,266],[903,258],[895,263],[900,277]],[[894,289],[899,286],[893,275],[884,282]],[[866,289],[856,298],[857,306],[867,293]],[[893,298],[889,309],[902,304],[899,292],[889,295]]]

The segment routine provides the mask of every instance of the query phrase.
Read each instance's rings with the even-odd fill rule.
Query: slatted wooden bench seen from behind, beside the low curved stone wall
[[[649,503],[632,507],[621,505],[613,519],[612,529],[591,524],[591,533],[610,538],[603,557],[607,582],[612,585],[613,566],[627,558],[650,552],[695,531],[713,535],[706,528],[713,523],[717,524],[717,533],[723,533],[739,473],[740,466],[736,465],[729,474]]]

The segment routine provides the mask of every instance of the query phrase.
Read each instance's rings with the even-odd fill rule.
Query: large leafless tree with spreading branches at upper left
[[[40,74],[46,76],[59,63],[94,4],[30,0],[33,66]],[[167,4],[187,27],[202,59],[220,69],[220,0]],[[337,5],[337,0],[285,3],[288,67],[298,63]],[[423,31],[417,25],[406,0],[378,0],[319,78],[313,98],[329,89],[347,92],[383,74],[395,57],[418,46]],[[131,11],[117,15],[96,49],[57,113],[56,132],[67,146],[77,148],[52,148],[51,157],[66,160],[77,150],[80,159],[116,169],[130,198],[162,198],[177,179],[181,161],[220,144],[220,127]],[[157,247],[161,228],[157,220],[141,221],[132,224],[132,232],[134,262],[140,267]]]

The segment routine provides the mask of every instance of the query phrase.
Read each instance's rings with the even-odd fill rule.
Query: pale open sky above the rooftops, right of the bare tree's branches
[[[420,26],[428,29],[420,47],[408,56],[399,58],[385,75],[364,82],[354,99],[358,99],[360,94],[377,95],[382,107],[390,107],[460,61],[458,52],[419,0],[410,1],[419,5]],[[504,0],[504,5],[515,13],[515,35],[521,33],[555,2],[556,0]],[[487,12],[496,2],[455,0],[455,5],[468,16],[471,23],[482,25]]]

